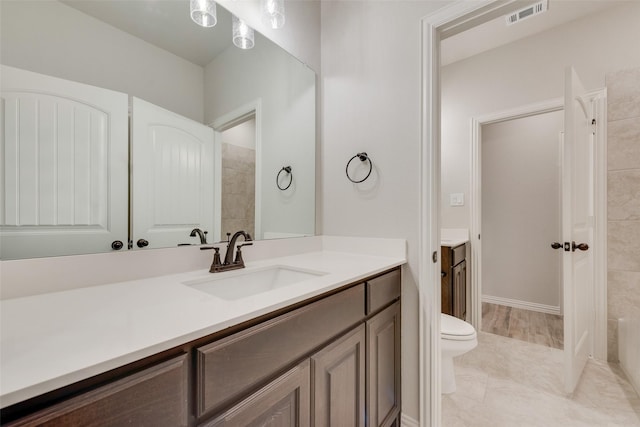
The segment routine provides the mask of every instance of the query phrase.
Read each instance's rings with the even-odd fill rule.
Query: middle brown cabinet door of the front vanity
[[[365,326],[311,357],[314,425],[364,427]]]

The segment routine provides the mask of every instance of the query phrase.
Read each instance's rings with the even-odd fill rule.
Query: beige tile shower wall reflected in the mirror
[[[256,151],[222,144],[222,233],[244,230],[255,236]]]

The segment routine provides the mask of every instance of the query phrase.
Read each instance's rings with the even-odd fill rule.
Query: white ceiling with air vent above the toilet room
[[[549,0],[549,9],[507,26],[504,16],[442,41],[441,64],[447,65],[541,33],[629,0]],[[640,24],[640,23],[639,23]]]

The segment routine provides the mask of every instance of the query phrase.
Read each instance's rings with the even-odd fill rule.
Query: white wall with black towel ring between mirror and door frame
[[[407,240],[402,283],[402,411],[419,416],[420,21],[445,2],[322,2],[324,233]],[[366,151],[371,177],[347,161]]]

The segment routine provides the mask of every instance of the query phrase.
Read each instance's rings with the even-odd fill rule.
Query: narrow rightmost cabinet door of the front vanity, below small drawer
[[[400,405],[400,303],[367,321],[370,427],[391,426]]]

